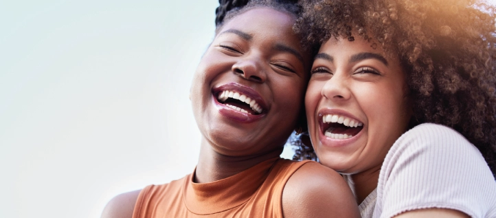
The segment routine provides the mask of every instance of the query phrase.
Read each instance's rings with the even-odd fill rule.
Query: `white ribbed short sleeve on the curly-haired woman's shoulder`
[[[496,217],[496,182],[480,151],[460,133],[421,124],[387,153],[374,217],[449,208],[471,217]]]

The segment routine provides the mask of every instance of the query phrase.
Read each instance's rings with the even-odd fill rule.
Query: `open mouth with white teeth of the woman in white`
[[[322,116],[321,130],[328,138],[345,140],[357,135],[363,129],[363,123],[342,115],[326,114]]]

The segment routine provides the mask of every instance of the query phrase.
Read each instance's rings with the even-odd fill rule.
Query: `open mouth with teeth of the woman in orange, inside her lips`
[[[256,100],[249,98],[245,94],[240,94],[237,91],[219,91],[217,93],[217,100],[221,104],[243,113],[259,115],[264,111]]]

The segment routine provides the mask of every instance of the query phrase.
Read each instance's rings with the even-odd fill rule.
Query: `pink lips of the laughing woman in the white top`
[[[327,137],[324,135],[324,130],[322,129],[322,116],[327,115],[327,114],[332,114],[332,115],[342,115],[342,116],[347,116],[348,118],[352,118],[354,120],[358,120],[359,122],[362,122],[359,120],[356,116],[353,116],[352,114],[343,111],[341,109],[321,109],[317,113],[317,123],[319,124],[319,140],[320,143],[324,146],[329,146],[329,147],[342,147],[346,146],[348,144],[351,144],[353,142],[356,142],[360,136],[363,133],[363,129],[365,129],[365,123],[363,124],[363,129],[357,133],[357,135],[353,135],[352,138],[347,138],[347,139],[342,139],[342,140],[336,140]],[[363,122],[362,122],[363,123]]]

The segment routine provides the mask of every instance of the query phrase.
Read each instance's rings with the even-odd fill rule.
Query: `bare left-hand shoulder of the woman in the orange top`
[[[141,190],[133,190],[113,197],[106,204],[101,218],[131,218]]]

